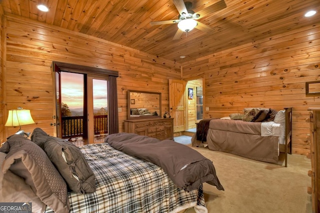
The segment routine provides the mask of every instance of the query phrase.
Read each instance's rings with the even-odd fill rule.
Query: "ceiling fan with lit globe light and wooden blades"
[[[212,34],[214,32],[214,29],[211,26],[208,26],[206,24],[203,24],[197,21],[197,19],[209,13],[213,13],[215,11],[218,11],[226,7],[224,0],[220,0],[210,6],[207,6],[206,8],[198,12],[194,12],[193,10],[191,10],[192,2],[190,1],[183,2],[183,0],[172,0],[172,1],[179,12],[178,19],[151,21],[150,24],[153,26],[153,25],[159,25],[159,24],[177,23],[178,30],[176,31],[173,37],[173,40],[179,39],[183,34],[183,32],[188,32],[193,28]]]

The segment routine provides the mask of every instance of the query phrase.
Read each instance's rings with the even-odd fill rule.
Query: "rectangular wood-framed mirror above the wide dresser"
[[[161,118],[161,93],[128,90],[128,119]]]

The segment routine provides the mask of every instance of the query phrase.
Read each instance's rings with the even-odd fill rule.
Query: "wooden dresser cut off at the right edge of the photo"
[[[308,176],[311,177],[311,187],[308,193],[311,194],[312,212],[320,212],[320,108],[310,108],[310,153],[311,170]]]

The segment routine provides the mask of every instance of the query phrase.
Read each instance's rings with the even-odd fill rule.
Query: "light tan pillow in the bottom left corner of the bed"
[[[5,156],[5,153],[0,152],[0,165]],[[6,171],[5,175],[0,170],[0,201],[32,203],[32,213],[43,213],[45,210],[45,204],[35,195],[30,186],[10,170]]]

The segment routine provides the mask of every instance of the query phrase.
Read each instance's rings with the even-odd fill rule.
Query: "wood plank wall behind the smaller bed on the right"
[[[231,42],[231,41],[230,41]],[[244,107],[293,107],[292,150],[309,150],[305,82],[320,80],[320,25],[292,30],[182,64],[183,79],[204,76],[205,118],[242,113]]]

